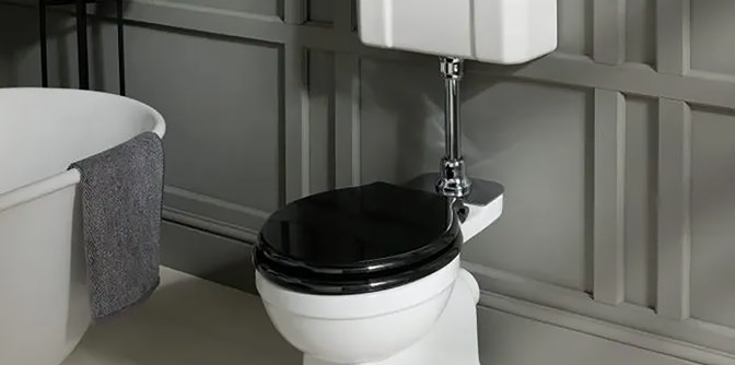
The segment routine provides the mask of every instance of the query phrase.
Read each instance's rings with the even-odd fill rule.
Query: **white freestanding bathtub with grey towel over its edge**
[[[69,164],[163,117],[130,98],[0,89],[0,364],[58,365],[90,322],[79,173]]]

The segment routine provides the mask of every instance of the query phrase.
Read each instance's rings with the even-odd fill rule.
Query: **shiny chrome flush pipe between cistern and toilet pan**
[[[436,182],[439,193],[463,198],[469,195],[471,182],[462,158],[462,129],[459,126],[459,80],[463,74],[463,60],[442,57],[440,69],[444,79],[444,133],[446,152],[440,166]]]

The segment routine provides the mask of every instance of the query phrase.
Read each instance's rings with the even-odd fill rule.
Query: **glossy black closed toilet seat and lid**
[[[421,279],[452,261],[462,233],[451,198],[386,182],[298,200],[258,236],[256,269],[315,294],[355,294]]]

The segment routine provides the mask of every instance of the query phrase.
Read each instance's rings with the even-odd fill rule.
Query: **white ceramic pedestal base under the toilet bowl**
[[[354,365],[480,365],[477,344],[475,278],[460,270],[446,308],[427,335],[410,348],[380,362]],[[303,365],[342,365],[304,356]]]

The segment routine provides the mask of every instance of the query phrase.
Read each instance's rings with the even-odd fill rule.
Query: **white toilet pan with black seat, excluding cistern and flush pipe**
[[[465,222],[500,215],[497,188]],[[386,182],[306,197],[264,224],[256,287],[304,365],[479,365],[463,224],[456,199]]]

